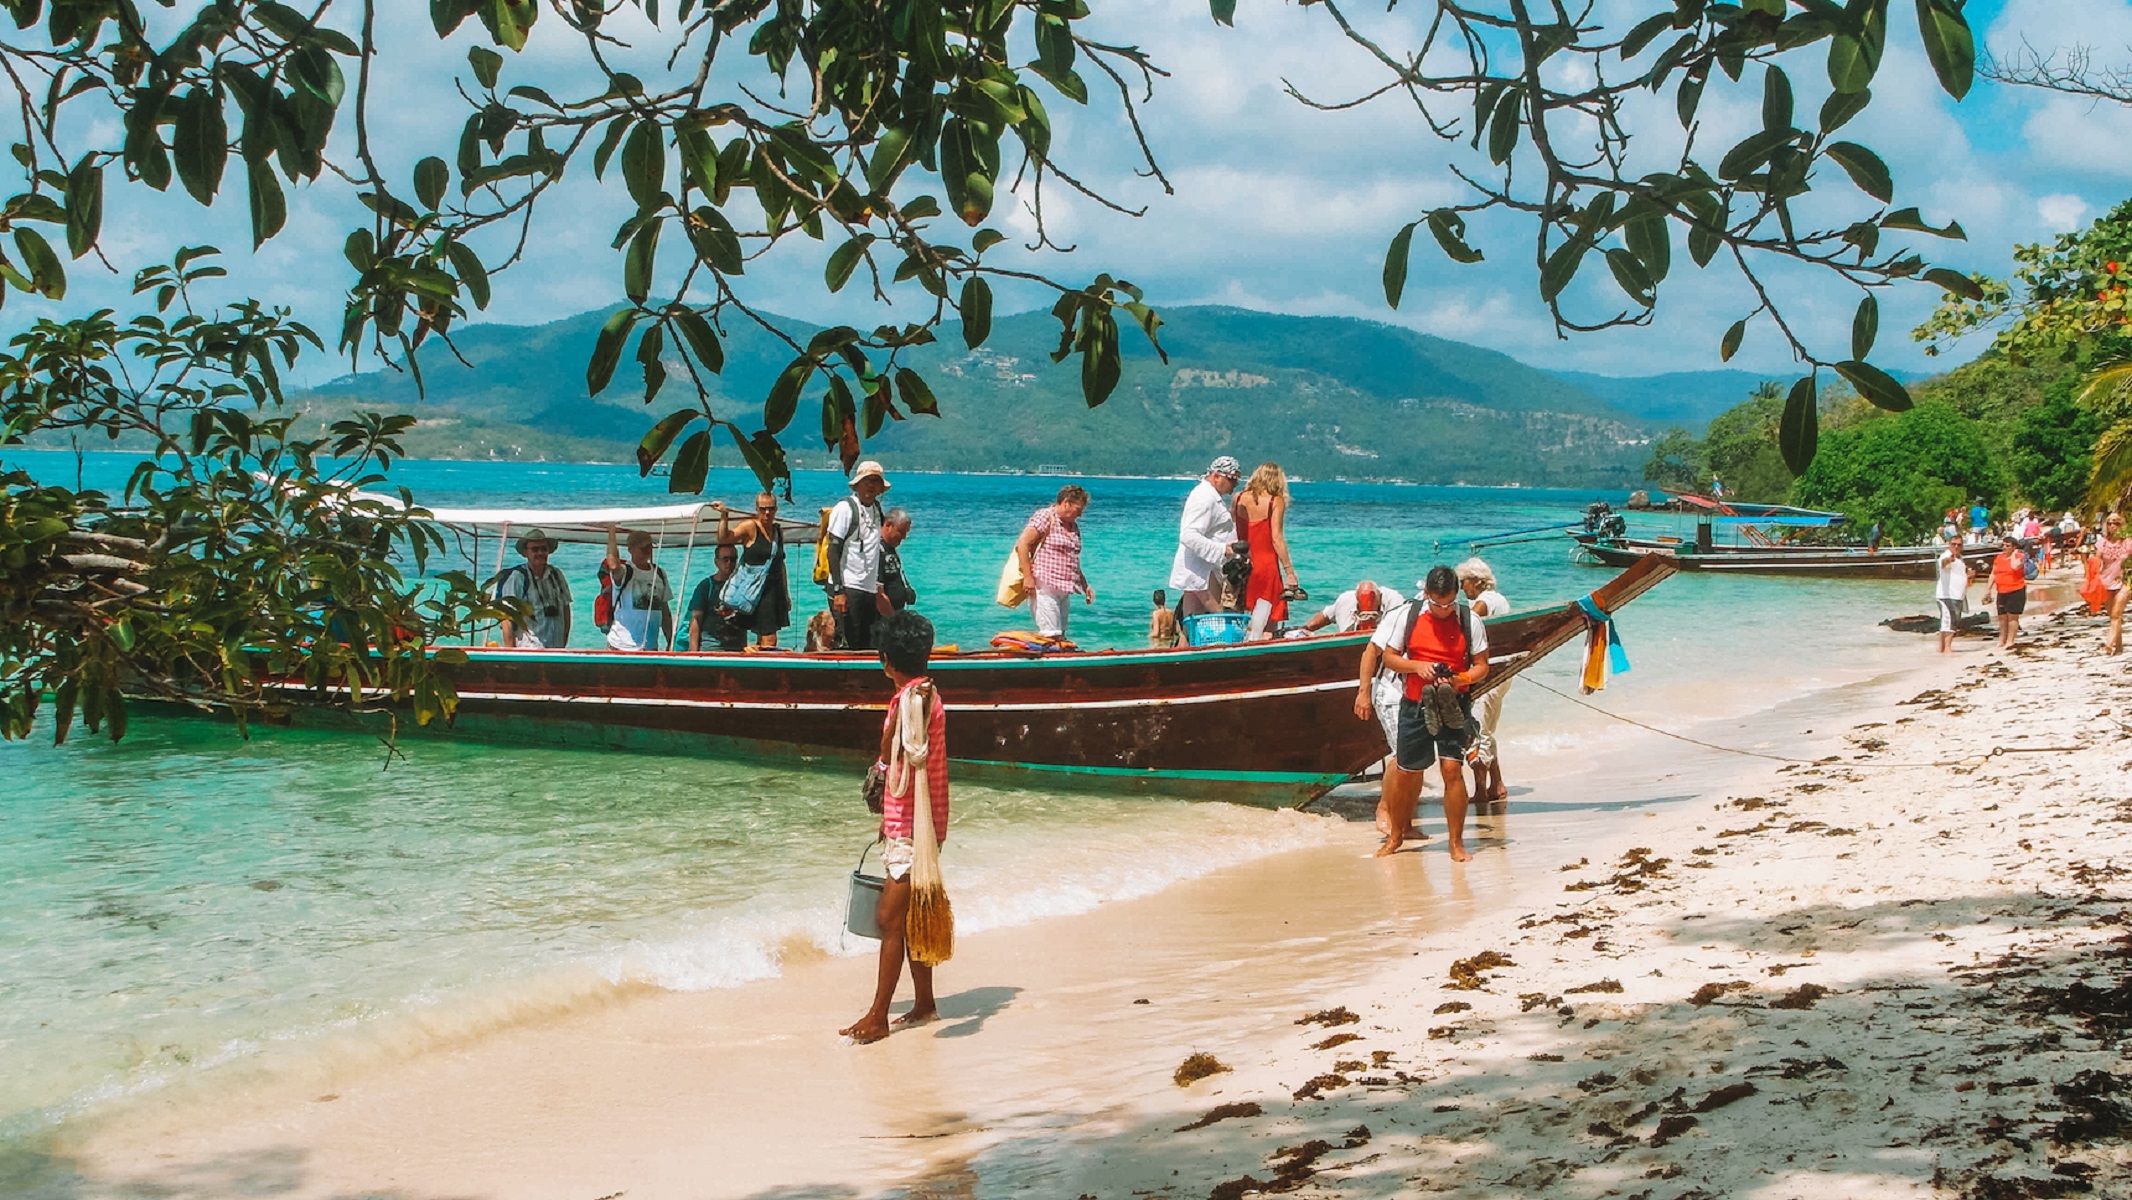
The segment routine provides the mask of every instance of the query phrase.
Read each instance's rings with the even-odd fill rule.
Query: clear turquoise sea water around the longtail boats
[[[72,482],[66,454],[11,463]],[[90,456],[117,486],[128,460]],[[1060,480],[893,475],[904,550],[944,642],[1025,627],[989,603],[1021,522]],[[431,505],[667,503],[629,467],[405,463]],[[1096,605],[1083,646],[1143,644],[1190,482],[1077,480]],[[714,471],[744,505],[753,480]],[[787,512],[842,494],[808,473]],[[1290,544],[1320,603],[1358,578],[1401,590],[1458,539],[1573,520],[1590,492],[1298,484]],[[1608,497],[1616,499],[1618,497]],[[591,637],[597,550],[565,548]],[[663,561],[680,575],[682,556]],[[1488,552],[1514,605],[1605,580],[1563,541]],[[695,554],[693,573],[710,569]],[[492,569],[492,563],[482,563]],[[819,607],[793,552],[800,620]],[[680,584],[682,595],[693,578]],[[1622,620],[1635,669],[1610,710],[1695,731],[1929,652],[1876,629],[1929,607],[1929,582],[1682,575]],[[791,642],[800,629],[789,631]],[[1573,691],[1576,654],[1531,678]],[[953,737],[953,733],[951,733]],[[1593,748],[1650,737],[1535,686],[1505,712],[1505,765],[1535,799],[1573,801]],[[1663,742],[1652,742],[1665,752]],[[254,1070],[420,1047],[631,987],[731,987],[844,940],[842,878],[870,840],[857,780],[682,757],[258,733],[134,720],[124,744],[0,744],[0,1149],[98,1102]],[[1283,848],[1354,840],[1339,821],[1222,804],[959,787],[949,870],[964,929],[1079,912]]]

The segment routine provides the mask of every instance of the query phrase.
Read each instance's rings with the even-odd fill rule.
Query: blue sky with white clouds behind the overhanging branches
[[[1384,75],[1345,40],[1324,6],[1243,0],[1237,26],[1215,26],[1205,0],[1094,0],[1096,36],[1143,47],[1168,72],[1141,107],[1156,158],[1173,185],[1164,192],[1138,175],[1130,130],[1115,98],[1100,87],[1087,109],[1053,98],[1055,153],[1079,177],[1145,215],[1126,217],[1051,185],[1045,215],[1051,239],[1070,254],[1030,252],[1034,222],[1019,196],[1002,190],[994,211],[1011,241],[989,260],[1034,269],[1079,283],[1098,271],[1132,279],[1149,303],[1224,303],[1251,309],[1352,315],[1392,322],[1422,333],[1469,341],[1548,369],[1608,375],[1654,375],[1716,369],[1718,339],[1753,307],[1753,294],[1716,264],[1695,271],[1676,239],[1676,269],[1661,292],[1657,320],[1558,337],[1535,292],[1531,226],[1512,217],[1475,224],[1473,243],[1486,260],[1471,266],[1445,260],[1426,234],[1416,239],[1414,271],[1401,309],[1384,303],[1379,273],[1390,237],[1431,207],[1467,196],[1450,166],[1471,166],[1463,145],[1435,139],[1420,113],[1401,98],[1324,113],[1296,102],[1286,83],[1320,100],[1350,100],[1382,83]],[[1364,11],[1371,9],[1371,11]],[[1416,45],[1416,21],[1428,9],[1409,2],[1390,13],[1356,6],[1354,19],[1386,45]],[[1667,0],[1597,0],[1610,28],[1627,28]],[[465,49],[475,45],[473,23],[439,45],[429,30],[426,4],[386,0],[384,51],[377,75],[377,143],[386,171],[405,179],[422,153],[452,158],[465,104],[448,79],[465,70]],[[2132,111],[2034,90],[2002,87],[1978,79],[1966,102],[1955,104],[1936,85],[1919,43],[1910,4],[1893,6],[1887,60],[1874,81],[1874,104],[1846,126],[1846,136],[1874,147],[1895,177],[1895,205],[1917,205],[1927,220],[1959,220],[1966,243],[1912,239],[1917,249],[1964,271],[2006,275],[2017,243],[2047,241],[2077,228],[2132,194]],[[2126,0],[1972,0],[1970,23],[1978,40],[2000,55],[2023,45],[2040,51],[2087,47],[2100,64],[2132,64],[2132,4]],[[552,15],[550,15],[552,17]],[[610,23],[631,38],[625,23]],[[505,85],[544,83],[563,92],[584,75],[574,43],[554,36],[559,21],[535,30],[524,55],[505,64]],[[738,47],[727,53],[733,62]],[[616,51],[629,62],[631,51]],[[650,47],[633,51],[646,62]],[[1791,66],[1806,119],[1827,83],[1821,53],[1806,51]],[[723,58],[721,58],[723,62]],[[1100,77],[1087,72],[1092,87]],[[1750,70],[1740,85],[1714,81],[1703,100],[1701,147],[1729,145],[1759,128],[1761,77]],[[1671,92],[1629,111],[1637,134],[1633,153],[1652,166],[1678,153],[1680,126]],[[343,113],[337,149],[345,156],[350,124]],[[111,124],[75,130],[85,139],[115,139]],[[1846,224],[1872,211],[1834,168],[1823,168],[1825,196],[1808,215]],[[497,301],[475,320],[537,324],[593,307],[620,303],[620,256],[608,247],[627,217],[620,188],[591,181],[588,166],[574,171],[542,217],[527,260],[497,279]],[[237,181],[237,173],[230,173]],[[258,254],[249,237],[241,188],[203,211],[173,188],[154,196],[115,188],[109,198],[104,241],[126,271],[177,245],[213,243],[228,252],[232,283],[262,301],[288,305],[298,318],[328,333],[339,326],[341,292],[352,269],[341,241],[362,224],[345,185],[294,192],[290,224]],[[495,245],[486,252],[495,258]],[[917,296],[898,296],[891,309],[874,305],[853,286],[829,296],[821,283],[827,247],[791,245],[750,266],[744,296],[770,311],[870,326],[915,320],[930,311]],[[1848,352],[1851,313],[1859,292],[1825,273],[1776,269],[1772,281],[1784,296],[1795,328],[1827,358]],[[1584,313],[1618,309],[1605,271],[1590,266],[1569,292]],[[1883,339],[1876,362],[1895,369],[1932,369],[1983,350],[1983,339],[1957,345],[1951,360],[1929,360],[1904,337],[1938,301],[1938,290],[1906,283],[1880,292]],[[75,262],[64,305],[11,298],[0,328],[19,328],[34,315],[79,315],[94,307],[128,311],[126,277],[92,260]],[[1049,307],[1040,288],[1002,290],[1000,309]],[[1797,373],[1789,350],[1765,324],[1750,326],[1733,367],[1770,375]],[[348,360],[318,362],[303,377],[343,373]],[[375,369],[365,362],[362,369]],[[1070,369],[1070,367],[1068,367]]]

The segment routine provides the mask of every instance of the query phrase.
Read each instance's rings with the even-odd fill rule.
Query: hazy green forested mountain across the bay
[[[373,371],[311,390],[303,407],[409,411],[422,420],[409,452],[422,456],[627,458],[687,388],[676,379],[646,409],[623,371],[588,399],[584,356],[603,318],[469,326],[456,341],[471,371],[441,345],[422,350],[426,394],[403,373]],[[906,469],[1087,473],[1190,473],[1226,452],[1307,477],[1599,486],[1635,484],[1661,424],[1505,354],[1377,322],[1228,307],[1164,309],[1164,320],[1170,360],[1128,330],[1124,382],[1100,409],[1081,403],[1072,362],[1051,364],[1047,313],[1000,318],[976,352],[949,326],[910,358],[944,416],[891,422],[868,452]],[[791,352],[746,322],[725,333],[716,386],[746,401],[721,401],[721,416],[750,424]],[[793,428],[812,422],[808,399]],[[804,437],[793,445],[821,460]]]

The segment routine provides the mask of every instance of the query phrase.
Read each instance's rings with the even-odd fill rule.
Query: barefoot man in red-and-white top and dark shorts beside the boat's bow
[[[1399,740],[1384,780],[1388,831],[1377,855],[1399,850],[1405,840],[1422,791],[1420,776],[1433,761],[1443,778],[1450,855],[1463,863],[1473,857],[1465,848],[1465,750],[1473,735],[1469,693],[1488,678],[1488,633],[1458,603],[1452,569],[1431,567],[1420,599],[1401,614],[1386,614],[1371,646],[1384,669],[1405,676]],[[1362,701],[1356,701],[1356,712],[1364,712]]]

